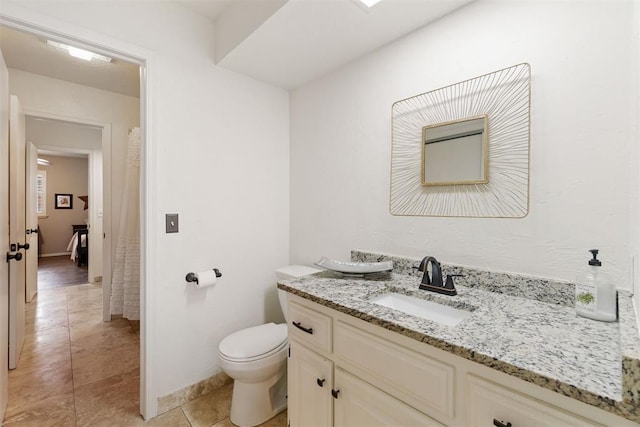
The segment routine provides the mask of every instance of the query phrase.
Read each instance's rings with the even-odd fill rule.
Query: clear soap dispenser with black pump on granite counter
[[[576,283],[576,313],[590,319],[613,322],[617,320],[617,293],[613,280],[602,271],[598,250],[589,250],[589,270]]]

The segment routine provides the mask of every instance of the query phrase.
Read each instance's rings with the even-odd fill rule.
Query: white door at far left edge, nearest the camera
[[[9,72],[0,51],[0,248],[9,254]],[[4,261],[4,260],[2,260]],[[0,262],[0,419],[7,407],[9,352],[9,263]]]

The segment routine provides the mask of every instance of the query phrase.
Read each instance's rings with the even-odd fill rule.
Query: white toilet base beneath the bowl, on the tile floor
[[[253,427],[275,417],[287,407],[287,370],[267,381],[243,383],[235,380],[231,398],[231,422]]]

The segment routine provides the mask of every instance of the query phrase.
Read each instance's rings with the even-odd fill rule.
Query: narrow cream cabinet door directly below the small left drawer
[[[290,339],[287,364],[291,427],[328,427],[333,421],[333,362]]]

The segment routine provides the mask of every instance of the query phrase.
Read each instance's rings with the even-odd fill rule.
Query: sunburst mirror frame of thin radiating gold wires
[[[518,64],[394,103],[391,214],[526,216],[529,211],[530,82],[531,67]],[[432,142],[425,137],[424,129],[481,116],[486,117],[487,123],[484,137],[488,150],[482,154],[486,182],[453,180],[445,185],[424,185],[425,144]],[[444,164],[444,169],[459,163],[455,158],[444,161],[449,162]]]

